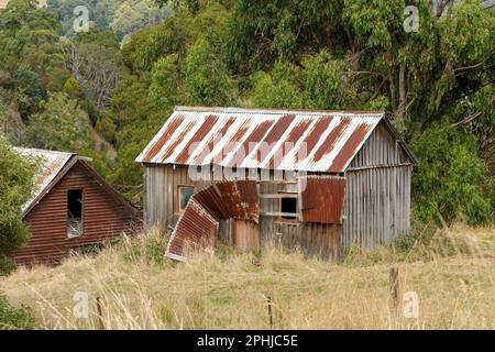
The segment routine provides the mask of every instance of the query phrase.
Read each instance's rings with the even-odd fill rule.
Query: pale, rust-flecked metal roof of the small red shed
[[[68,163],[70,157],[76,154],[63,153],[63,152],[52,152],[36,148],[24,148],[14,147],[14,150],[34,162],[38,162],[41,165],[37,173],[34,175],[34,187],[33,194],[23,206],[22,211],[24,212],[31,204],[40,197],[43,190],[48,187],[48,185],[55,179],[55,177],[62,172],[64,166]]]

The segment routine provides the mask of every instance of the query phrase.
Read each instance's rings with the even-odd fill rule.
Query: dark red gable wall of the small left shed
[[[135,220],[79,163],[25,217],[31,238],[13,253],[18,264],[57,263],[70,248],[119,235]],[[73,239],[67,238],[68,189],[84,189],[84,235]]]

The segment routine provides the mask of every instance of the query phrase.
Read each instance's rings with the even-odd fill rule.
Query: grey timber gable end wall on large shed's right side
[[[413,166],[381,122],[345,173],[341,246],[373,249],[410,230]]]

